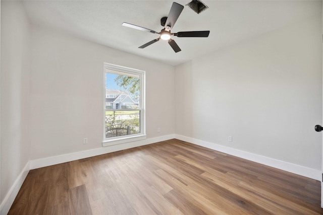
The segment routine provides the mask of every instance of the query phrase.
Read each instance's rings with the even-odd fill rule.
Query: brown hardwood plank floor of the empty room
[[[320,182],[172,139],[31,170],[9,214],[323,214]]]

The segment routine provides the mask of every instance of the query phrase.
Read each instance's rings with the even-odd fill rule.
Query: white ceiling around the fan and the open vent
[[[173,1],[24,1],[31,23],[67,32],[79,38],[139,56],[177,65],[243,40],[279,29],[322,12],[321,1],[206,1],[209,8],[196,14],[184,6],[173,33],[209,30],[208,38],[173,37],[182,51],[167,41],[138,47],[158,37],[122,26],[128,22],[159,32],[160,18]]]

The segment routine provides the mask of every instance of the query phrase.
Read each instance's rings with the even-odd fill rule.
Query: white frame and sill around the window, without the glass
[[[140,133],[135,134],[129,134],[129,135],[123,135],[123,136],[114,136],[114,137],[105,137],[105,73],[106,70],[115,70],[115,71],[121,71],[123,73],[128,74],[134,74],[139,75],[140,79],[140,97],[139,97],[139,109],[140,110]],[[145,126],[145,71],[129,68],[125,66],[115,65],[111,63],[104,63],[104,69],[103,69],[103,141],[102,146],[113,146],[117,144],[124,144],[126,142],[131,141],[138,141],[142,139],[146,139],[146,126]],[[123,109],[118,109],[123,110]],[[127,110],[127,109],[124,109]],[[129,110],[129,109],[128,109]]]

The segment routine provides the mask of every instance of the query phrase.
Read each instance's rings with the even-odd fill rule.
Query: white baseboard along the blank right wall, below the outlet
[[[287,172],[295,173],[295,174],[305,176],[305,177],[308,177],[311,179],[315,179],[318,181],[321,181],[321,179],[322,179],[320,170],[315,170],[315,169],[311,169],[308,167],[303,167],[303,166],[288,163],[285,161],[280,161],[280,160],[276,160],[273,158],[268,158],[265,156],[256,155],[253,153],[233,149],[230,147],[225,147],[225,146],[218,145],[218,144],[213,144],[211,142],[207,142],[207,141],[203,141],[203,140],[199,140],[199,139],[194,139],[191,137],[182,136],[182,135],[178,135],[178,134],[175,134],[175,138],[186,141],[186,142],[191,142],[192,144],[195,144],[195,145],[198,145],[201,147],[205,147],[205,148],[209,148],[209,149],[216,150],[219,152],[223,152],[223,153],[226,153],[229,155],[233,155],[233,156],[236,156],[239,158],[243,158],[243,159],[246,159],[249,161],[259,163],[259,164],[264,164],[264,165],[274,167],[274,168],[277,168],[280,170],[284,170]]]

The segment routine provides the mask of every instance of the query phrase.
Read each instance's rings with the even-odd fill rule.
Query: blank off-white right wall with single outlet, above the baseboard
[[[320,172],[321,28],[318,15],[177,66],[176,134]]]

